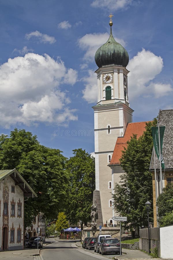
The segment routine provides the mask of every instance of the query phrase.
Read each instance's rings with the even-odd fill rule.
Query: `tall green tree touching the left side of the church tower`
[[[69,196],[66,215],[71,223],[90,221],[93,190],[95,190],[95,159],[82,148],[73,150],[67,161]]]

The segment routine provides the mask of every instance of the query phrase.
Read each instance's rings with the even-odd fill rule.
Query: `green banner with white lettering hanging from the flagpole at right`
[[[158,129],[158,127],[151,127],[151,131],[152,131],[152,136],[153,136],[155,152],[157,154],[157,158],[159,159],[159,161],[160,161],[160,157],[159,157],[159,131],[160,131],[161,168],[164,170],[165,164],[163,161],[162,146],[163,146],[163,136],[164,136],[164,132],[165,132],[165,126],[159,127],[159,129]]]

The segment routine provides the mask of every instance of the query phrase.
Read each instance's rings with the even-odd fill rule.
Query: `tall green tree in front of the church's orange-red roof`
[[[133,134],[120,159],[125,173],[121,174],[120,183],[115,184],[112,195],[113,207],[121,216],[127,216],[127,222],[124,224],[128,229],[146,226],[145,203],[149,200],[153,204],[152,174],[148,169],[153,150],[151,127],[156,123],[156,119],[146,123],[146,130],[139,138]],[[151,221],[152,216],[153,209],[151,208]]]

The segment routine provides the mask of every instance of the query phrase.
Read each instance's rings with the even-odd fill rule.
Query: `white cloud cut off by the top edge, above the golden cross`
[[[107,8],[108,10],[118,10],[125,8],[133,3],[133,0],[94,0],[91,6],[96,8]]]

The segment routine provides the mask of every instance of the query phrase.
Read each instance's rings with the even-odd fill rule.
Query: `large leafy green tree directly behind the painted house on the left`
[[[14,129],[10,137],[1,135],[0,144],[1,169],[16,168],[37,192],[37,198],[25,201],[25,227],[40,211],[47,218],[56,218],[65,206],[68,187],[66,158],[61,151],[40,145],[36,135],[24,129]]]

